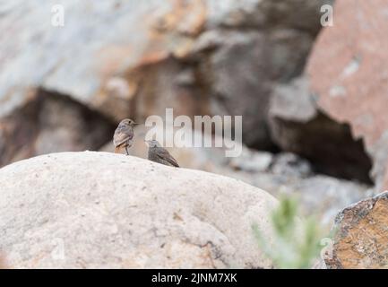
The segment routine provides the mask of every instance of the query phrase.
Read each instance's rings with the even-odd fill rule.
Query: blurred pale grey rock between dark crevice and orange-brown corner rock
[[[254,175],[242,172],[225,174],[263,188],[272,196],[297,196],[302,213],[315,216],[326,230],[330,230],[341,209],[373,195],[373,188],[370,186],[323,175],[311,174],[300,178],[297,174],[272,172]]]

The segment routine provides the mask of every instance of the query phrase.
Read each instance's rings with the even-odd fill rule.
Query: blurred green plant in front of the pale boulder
[[[276,268],[309,268],[319,256],[322,229],[313,217],[298,218],[295,197],[282,196],[272,212],[272,243],[264,239],[257,224],[252,228],[260,248]]]

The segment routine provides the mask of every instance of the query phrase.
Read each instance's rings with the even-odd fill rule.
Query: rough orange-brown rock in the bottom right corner
[[[388,268],[388,192],[360,201],[337,215],[328,268]]]

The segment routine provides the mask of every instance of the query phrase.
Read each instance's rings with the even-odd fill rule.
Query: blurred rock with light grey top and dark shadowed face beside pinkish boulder
[[[274,89],[270,123],[274,142],[313,161],[315,172],[371,183],[372,162],[363,141],[317,107],[306,78]]]

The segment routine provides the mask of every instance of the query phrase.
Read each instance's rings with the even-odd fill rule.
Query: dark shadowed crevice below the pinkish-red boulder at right
[[[363,140],[353,138],[348,124],[338,123],[322,111],[307,122],[272,120],[281,148],[311,161],[315,172],[373,184],[369,174],[372,161]]]

